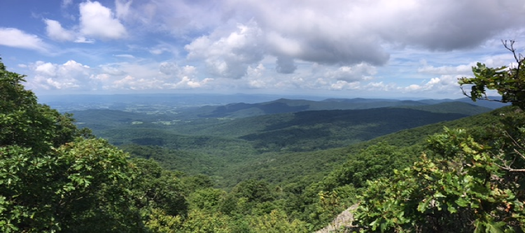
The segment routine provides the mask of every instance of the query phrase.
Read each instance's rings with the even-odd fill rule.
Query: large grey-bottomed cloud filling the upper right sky
[[[293,5],[292,5],[293,4]],[[352,66],[383,66],[385,45],[411,45],[427,50],[460,50],[483,43],[498,32],[520,27],[524,8],[519,1],[226,1],[230,19],[251,20],[264,42],[258,49],[284,61]],[[509,10],[512,9],[512,10]],[[225,31],[219,28],[217,31]],[[208,38],[208,44],[218,42]],[[197,39],[200,40],[200,39]],[[197,40],[194,40],[196,42]],[[255,48],[254,48],[255,49]],[[218,63],[225,65],[225,63]],[[228,63],[231,66],[231,63]],[[291,68],[291,67],[289,67]]]

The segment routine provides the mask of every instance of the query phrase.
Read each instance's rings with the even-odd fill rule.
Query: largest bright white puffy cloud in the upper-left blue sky
[[[101,39],[118,39],[127,35],[124,25],[114,17],[111,9],[98,1],[80,3],[80,33]]]

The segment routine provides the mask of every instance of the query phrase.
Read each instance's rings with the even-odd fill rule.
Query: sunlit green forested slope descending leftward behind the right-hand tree
[[[341,167],[353,155],[375,144],[397,146],[406,153],[421,155],[423,144],[429,135],[442,133],[443,128],[470,128],[483,132],[484,127],[499,121],[511,108],[504,107],[484,114],[419,126],[396,133],[376,137],[372,140],[349,144],[344,147],[304,152],[265,153],[255,161],[243,163],[236,170],[225,174],[225,180],[261,179],[272,183],[293,183],[302,180],[316,182],[323,176]],[[232,184],[230,184],[232,185]]]

